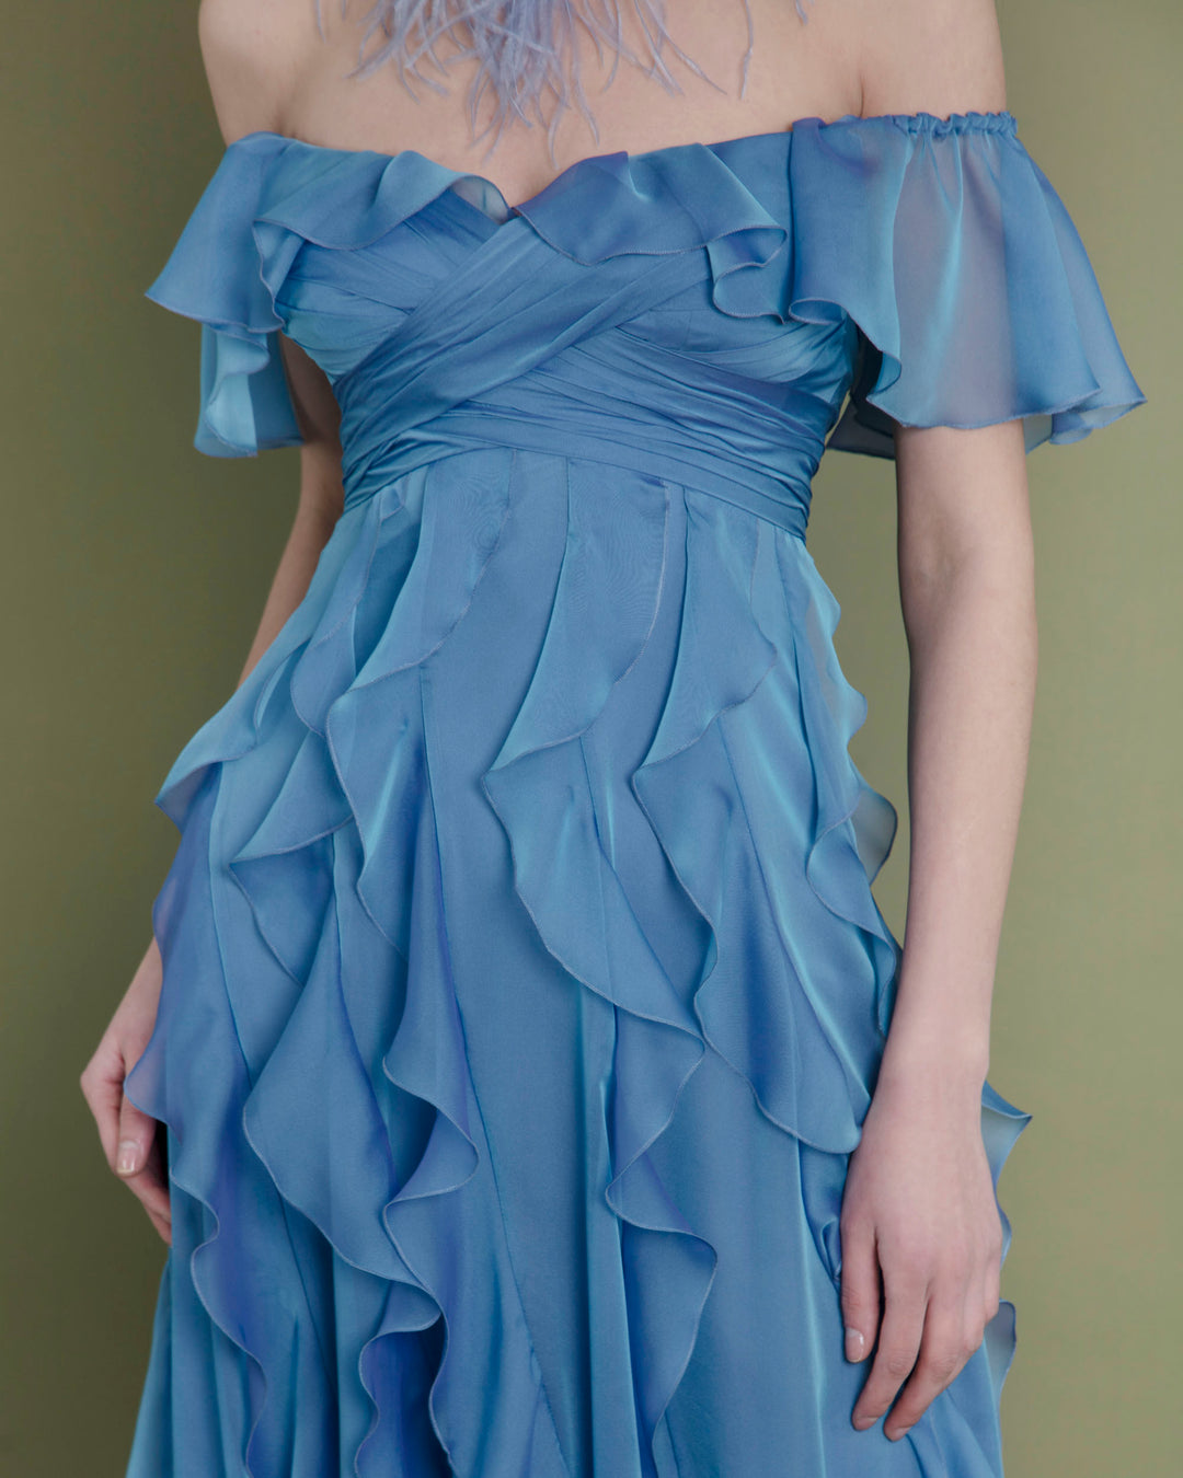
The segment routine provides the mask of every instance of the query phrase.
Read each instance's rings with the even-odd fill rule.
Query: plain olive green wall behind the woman
[[[296,451],[192,449],[198,331],[142,296],[220,157],[195,15],[191,0],[67,0],[4,19],[0,1474],[13,1478],[124,1469],[164,1244],[108,1171],[78,1073],[176,845],[152,797],[235,684],[297,488]],[[1081,229],[1149,396],[1029,458],[1040,695],[989,1073],[1035,1116],[1001,1182],[1019,1333],[1009,1478],[1165,1478],[1183,1438],[1180,15],[1176,0],[1001,4],[1020,137]],[[855,757],[901,808],[877,891],[902,933],[890,463],[825,460],[810,547],[870,701]],[[818,1478],[788,1454],[785,1472]]]

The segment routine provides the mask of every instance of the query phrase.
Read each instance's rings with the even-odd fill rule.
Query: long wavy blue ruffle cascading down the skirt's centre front
[[[574,981],[617,1009],[606,1199],[623,1256],[634,1400],[649,1445],[694,1348],[716,1252],[686,1221],[646,1150],[665,1131],[702,1057],[689,1002],[670,977],[615,854],[620,804],[589,755],[592,730],[636,668],[673,571],[674,489],[568,463],[566,534],[550,619],[485,792],[512,850],[513,882]],[[657,1234],[657,1236],[654,1236]],[[648,1468],[643,1471],[649,1471]]]

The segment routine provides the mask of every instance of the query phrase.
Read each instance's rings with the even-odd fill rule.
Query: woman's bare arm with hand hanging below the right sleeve
[[[847,1355],[865,1358],[878,1333],[852,1420],[877,1420],[906,1379],[889,1437],[954,1379],[998,1308],[1003,1231],[980,1095],[1037,668],[1022,421],[898,427],[896,483],[908,915],[840,1222]]]

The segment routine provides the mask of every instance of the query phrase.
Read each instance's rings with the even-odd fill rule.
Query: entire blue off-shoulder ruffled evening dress
[[[279,330],[322,367],[346,504],[157,797],[129,1478],[998,1478],[1007,1301],[902,1441],[850,1425],[896,811],[804,535],[825,448],[1145,399],[1014,117],[605,154],[516,207],[256,132],[148,296],[201,322],[203,452],[300,442]],[[995,1196],[1029,1117],[986,1083]]]

